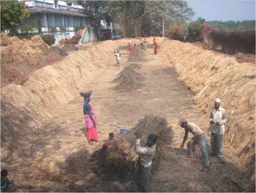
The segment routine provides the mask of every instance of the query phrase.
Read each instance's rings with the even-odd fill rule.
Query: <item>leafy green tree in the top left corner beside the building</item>
[[[15,33],[17,27],[23,25],[29,12],[25,10],[24,2],[20,1],[1,1],[1,31],[8,30],[9,33]]]

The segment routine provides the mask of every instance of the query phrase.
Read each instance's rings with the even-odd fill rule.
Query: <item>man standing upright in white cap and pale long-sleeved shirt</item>
[[[223,137],[225,133],[225,124],[227,115],[224,108],[221,107],[221,99],[214,100],[214,107],[210,112],[210,132],[211,132],[211,156],[217,156],[221,162],[223,158]]]

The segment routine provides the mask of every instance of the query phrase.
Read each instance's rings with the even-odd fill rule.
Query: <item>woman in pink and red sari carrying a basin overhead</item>
[[[97,142],[99,139],[96,131],[96,126],[98,125],[98,123],[97,117],[94,113],[94,109],[92,105],[89,104],[89,102],[90,96],[85,97],[83,103],[83,114],[85,115],[85,124],[87,126],[87,140],[89,145],[93,145],[92,140]]]

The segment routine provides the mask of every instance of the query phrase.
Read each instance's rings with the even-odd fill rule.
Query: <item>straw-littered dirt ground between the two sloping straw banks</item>
[[[87,181],[89,177],[83,173],[83,170],[79,170],[79,167],[77,167],[78,169],[73,168],[71,165],[82,164],[78,163],[81,161],[81,156],[87,152],[91,154],[100,148],[103,140],[108,138],[109,132],[119,133],[121,128],[129,129],[140,118],[150,113],[166,117],[174,131],[173,144],[167,147],[167,151],[170,152],[169,158],[167,163],[161,166],[160,172],[155,175],[152,181],[152,191],[243,191],[243,187],[241,187],[244,181],[242,172],[237,168],[235,161],[231,159],[232,150],[230,148],[225,147],[227,164],[222,165],[215,158],[210,158],[211,171],[209,175],[200,171],[202,161],[199,150],[197,150],[195,158],[184,157],[186,151],[179,148],[184,131],[178,127],[178,120],[185,117],[204,131],[208,126],[208,120],[204,118],[204,112],[201,112],[193,101],[191,90],[179,80],[175,69],[170,67],[164,53],[161,53],[160,50],[158,55],[154,55],[153,49],[148,46],[148,50],[144,51],[144,58],[139,62],[128,62],[127,50],[121,49],[121,53],[120,68],[115,66],[113,57],[113,62],[106,70],[96,74],[92,82],[81,88],[81,90],[93,90],[90,103],[94,106],[98,117],[99,142],[94,142],[94,146],[88,146],[82,113],[83,98],[77,93],[76,99],[58,109],[54,119],[38,133],[38,138],[35,141],[40,140],[40,146],[34,147],[33,144],[30,144],[27,147],[29,151],[23,152],[30,158],[36,154],[42,154],[44,155],[42,159],[59,160],[59,164],[61,164],[61,160],[70,158],[70,165],[63,166],[62,172],[65,176],[64,181],[68,179],[71,183],[63,183],[63,180],[53,182],[48,179],[48,183],[42,187],[20,186],[16,191],[31,191],[31,189],[62,192],[106,191],[106,186],[111,187],[112,191],[120,191],[120,187],[115,189],[116,187],[107,185],[97,177],[93,181]],[[139,67],[135,68],[135,71],[142,78],[140,82],[142,86],[131,91],[114,90],[113,87],[116,84],[111,81],[125,66],[130,64]],[[209,136],[207,136],[208,146],[209,141]],[[33,159],[28,160],[27,167],[34,161]],[[65,172],[73,175],[65,175]],[[22,178],[24,179],[24,176]],[[45,178],[47,179],[47,177]],[[33,179],[33,177],[28,176],[27,179]],[[77,186],[78,179],[83,180]],[[30,180],[29,183],[31,183]]]

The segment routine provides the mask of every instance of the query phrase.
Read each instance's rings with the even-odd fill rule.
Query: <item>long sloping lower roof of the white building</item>
[[[65,10],[51,10],[51,9],[42,9],[42,8],[27,8],[27,10],[31,14],[33,14],[33,13],[55,13],[55,14],[91,17],[89,14],[85,14],[85,13],[81,13],[81,12],[71,12],[71,11],[65,11]]]

